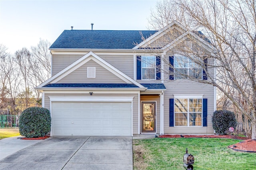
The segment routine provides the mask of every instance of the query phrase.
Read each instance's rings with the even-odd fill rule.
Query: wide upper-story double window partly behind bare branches
[[[194,63],[186,56],[174,55],[174,78],[175,80],[192,78],[202,79],[202,67]]]

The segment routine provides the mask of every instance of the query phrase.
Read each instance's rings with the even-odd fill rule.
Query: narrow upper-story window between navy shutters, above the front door
[[[156,80],[156,56],[141,56],[142,80]]]

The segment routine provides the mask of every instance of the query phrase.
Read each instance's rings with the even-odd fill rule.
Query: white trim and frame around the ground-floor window
[[[188,100],[189,99],[202,99],[202,116],[203,116],[203,94],[198,94],[198,95],[194,95],[194,94],[188,94],[188,95],[174,94],[174,102],[175,102],[175,99],[178,99],[178,98],[188,99]],[[189,105],[188,105],[188,107],[189,107]],[[189,114],[189,113],[190,112],[188,111],[187,114]],[[175,125],[175,110],[174,110],[174,127],[203,127],[203,119],[201,119],[201,126],[189,126],[189,115],[188,115],[187,116],[187,126],[176,126]]]

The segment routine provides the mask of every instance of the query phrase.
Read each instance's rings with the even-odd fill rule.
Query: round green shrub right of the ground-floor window
[[[227,135],[228,129],[236,129],[236,116],[234,112],[228,110],[216,110],[212,116],[212,126],[219,135]]]

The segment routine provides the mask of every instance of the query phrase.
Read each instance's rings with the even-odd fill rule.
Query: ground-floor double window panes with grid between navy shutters
[[[175,98],[175,126],[202,126],[202,98]]]

